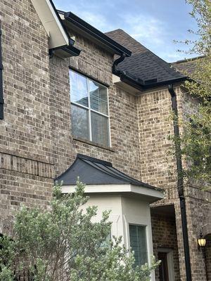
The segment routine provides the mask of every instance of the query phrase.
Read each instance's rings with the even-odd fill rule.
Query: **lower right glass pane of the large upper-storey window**
[[[91,133],[94,143],[108,146],[108,118],[91,112]]]

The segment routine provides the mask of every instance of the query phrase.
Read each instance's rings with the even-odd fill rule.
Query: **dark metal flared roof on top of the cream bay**
[[[75,162],[55,181],[63,181],[63,185],[75,185],[77,177],[86,185],[125,185],[131,184],[145,188],[158,189],[148,183],[137,181],[121,171],[113,168],[110,162],[78,154]]]

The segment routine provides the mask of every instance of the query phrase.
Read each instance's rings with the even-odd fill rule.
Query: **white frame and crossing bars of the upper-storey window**
[[[77,73],[77,74],[79,74],[79,75],[81,75],[81,76],[84,77],[84,78],[86,79],[86,81],[87,81],[88,105],[89,105],[88,107],[85,106],[85,105],[81,105],[81,104],[79,104],[79,103],[72,102],[72,101],[71,101],[71,89],[70,89],[70,103],[71,103],[71,105],[75,105],[75,106],[77,106],[77,107],[82,107],[82,108],[84,108],[85,110],[88,111],[89,140],[87,140],[87,141],[93,142],[93,141],[92,141],[92,131],[91,131],[91,112],[94,112],[94,113],[96,113],[96,114],[98,114],[98,115],[101,115],[101,116],[103,116],[103,117],[106,117],[106,118],[108,119],[108,145],[106,145],[106,146],[108,146],[108,148],[111,148],[110,111],[109,111],[109,100],[108,100],[108,87],[104,86],[103,84],[99,83],[98,81],[95,81],[94,79],[90,79],[89,77],[86,77],[86,75],[83,75],[83,74],[78,73],[78,72],[75,71],[75,70],[71,70],[71,69],[70,69],[69,72],[71,72],[71,71],[72,71],[72,72],[75,72],[75,73]],[[89,81],[94,81],[94,82],[98,83],[99,85],[101,85],[101,86],[103,86],[103,87],[106,88],[106,93],[107,93],[107,105],[108,105],[108,115],[106,115],[106,114],[104,114],[104,113],[101,113],[101,112],[98,112],[98,111],[96,111],[96,110],[93,110],[93,109],[91,108],[90,93],[89,93]],[[77,136],[76,136],[76,138],[77,138]],[[84,140],[86,140],[86,138],[84,138]],[[102,143],[96,143],[96,144],[98,144],[98,145],[103,145]]]

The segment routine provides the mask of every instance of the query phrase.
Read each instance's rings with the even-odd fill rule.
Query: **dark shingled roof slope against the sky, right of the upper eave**
[[[125,58],[117,66],[117,70],[134,79],[143,89],[184,81],[187,78],[186,75],[176,71],[169,63],[141,45],[124,30],[113,30],[106,34],[132,51],[132,56]]]

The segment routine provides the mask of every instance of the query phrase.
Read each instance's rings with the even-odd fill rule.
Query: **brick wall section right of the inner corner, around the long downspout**
[[[197,110],[197,101],[188,96],[183,89],[175,87],[177,93],[179,119],[187,120],[188,115]],[[184,263],[184,245],[181,228],[181,211],[177,195],[176,159],[169,155],[171,143],[168,136],[173,135],[171,112],[171,97],[167,89],[144,93],[139,97],[139,138],[141,150],[141,179],[165,189],[165,199],[159,204],[174,204],[177,228],[177,243],[179,249],[180,278],[186,280]],[[182,129],[181,129],[182,131]],[[186,162],[183,159],[183,165]],[[205,198],[210,192],[196,187],[184,185],[186,195],[186,213],[191,255],[191,269],[193,280],[205,280],[205,266],[200,251],[198,251],[197,237],[200,227],[211,221],[210,203]],[[211,202],[211,201],[210,201]],[[205,215],[206,214],[206,215]],[[159,228],[155,220],[153,224],[153,238],[160,239]],[[162,225],[165,233],[169,226]],[[156,254],[156,247],[155,247]]]

